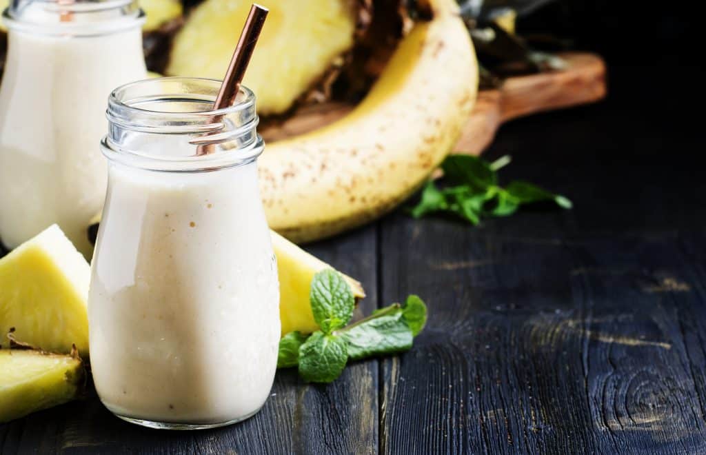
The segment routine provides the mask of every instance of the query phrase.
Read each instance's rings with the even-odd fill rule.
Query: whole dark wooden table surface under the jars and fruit
[[[608,101],[511,123],[488,152],[574,210],[478,228],[399,211],[309,247],[363,281],[365,313],[425,298],[409,353],[328,386],[280,371],[218,430],[147,430],[94,397],[0,425],[0,453],[705,453],[702,128],[644,68],[613,69]]]

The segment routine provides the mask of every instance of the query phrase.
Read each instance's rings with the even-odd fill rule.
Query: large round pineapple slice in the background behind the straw
[[[280,114],[354,44],[357,0],[263,0],[270,9],[244,85]],[[174,38],[167,75],[222,79],[251,1],[205,0]]]

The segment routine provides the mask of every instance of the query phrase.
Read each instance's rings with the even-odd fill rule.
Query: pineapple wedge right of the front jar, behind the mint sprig
[[[275,231],[272,243],[277,257],[277,274],[280,277],[280,320],[282,334],[294,330],[311,333],[318,330],[313,320],[309,303],[309,289],[314,274],[331,266],[306,253],[294,243]],[[351,286],[355,298],[365,297],[361,284],[351,277],[343,276]]]

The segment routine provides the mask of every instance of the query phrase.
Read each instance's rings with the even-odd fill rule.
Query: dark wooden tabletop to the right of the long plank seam
[[[510,123],[489,150],[513,154],[505,182],[573,211],[383,223],[381,304],[416,292],[430,320],[383,363],[381,452],[706,451],[706,183],[665,134],[686,145],[698,129],[636,110],[633,84]]]

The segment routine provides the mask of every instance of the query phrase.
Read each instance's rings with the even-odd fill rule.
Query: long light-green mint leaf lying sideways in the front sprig
[[[407,351],[414,339],[399,305],[393,313],[354,324],[341,336],[347,341],[351,360]]]

